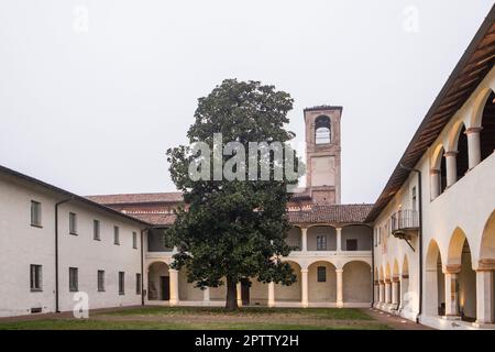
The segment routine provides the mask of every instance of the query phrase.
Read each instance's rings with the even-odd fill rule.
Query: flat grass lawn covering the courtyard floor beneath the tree
[[[364,310],[336,308],[140,307],[90,312],[89,319],[0,320],[0,330],[383,330]]]

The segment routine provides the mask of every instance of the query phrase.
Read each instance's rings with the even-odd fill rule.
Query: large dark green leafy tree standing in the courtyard
[[[282,178],[275,175],[293,167],[300,176],[304,165],[297,161],[290,165],[293,153],[287,150],[280,161],[275,150],[266,148],[273,142],[287,144],[294,138],[284,128],[292,108],[290,96],[274,86],[227,79],[198,100],[195,122],[187,133],[190,144],[167,151],[172,178],[186,205],[176,210],[177,220],[167,231],[168,244],[177,248],[172,266],[186,270],[188,282],[196,287],[227,285],[228,309],[238,308],[240,282],[290,285],[296,280],[290,265],[280,256],[292,250],[285,242],[290,229],[287,189],[297,184],[297,178],[287,173]],[[216,133],[221,133],[222,147],[228,150],[227,143],[232,141],[235,147],[228,153],[216,152]],[[198,142],[208,148],[196,148]],[[250,158],[253,142],[266,144]],[[234,179],[219,177],[215,162],[220,163],[221,170],[234,174]],[[268,179],[266,174],[262,177],[263,167],[268,170]],[[191,169],[202,177],[191,176]]]

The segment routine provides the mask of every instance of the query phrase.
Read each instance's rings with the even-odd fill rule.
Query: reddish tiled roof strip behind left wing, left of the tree
[[[183,194],[178,191],[155,193],[155,194],[99,195],[99,196],[87,196],[86,198],[106,206],[154,204],[154,202],[180,202],[184,200]]]

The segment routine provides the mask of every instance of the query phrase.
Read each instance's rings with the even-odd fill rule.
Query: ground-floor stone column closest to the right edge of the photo
[[[494,264],[495,266],[495,264]],[[476,323],[493,323],[493,271],[479,268],[476,271]]]

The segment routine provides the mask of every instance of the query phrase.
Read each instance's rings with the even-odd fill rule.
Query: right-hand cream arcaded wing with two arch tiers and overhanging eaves
[[[495,322],[492,10],[404,153],[374,223],[374,306],[440,329]]]

